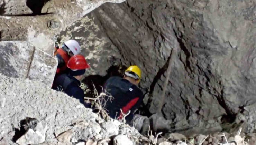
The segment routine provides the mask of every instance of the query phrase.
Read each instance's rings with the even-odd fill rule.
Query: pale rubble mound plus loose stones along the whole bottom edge
[[[214,145],[255,144],[255,134],[152,133],[140,135],[117,120],[103,120],[78,100],[39,81],[0,75],[0,145]]]

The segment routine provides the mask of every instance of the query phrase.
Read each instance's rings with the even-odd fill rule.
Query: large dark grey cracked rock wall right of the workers
[[[255,104],[255,4],[253,0],[128,0],[106,3],[90,19],[111,41],[102,49],[116,54],[108,47],[113,45],[121,55],[119,65],[136,64],[142,69],[140,87],[149,91],[144,103],[150,113],[159,108],[168,60],[176,48],[162,113],[177,128],[209,127],[223,115],[233,120],[245,106]],[[82,26],[85,32],[93,30],[88,26]],[[74,38],[76,32],[71,33]],[[108,62],[101,51],[94,55]],[[95,70],[102,69],[107,70]]]

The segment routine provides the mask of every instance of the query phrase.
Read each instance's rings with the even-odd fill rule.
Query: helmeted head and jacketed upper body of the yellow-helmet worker
[[[138,109],[143,100],[143,93],[138,88],[141,80],[141,70],[138,66],[130,66],[125,70],[124,77],[110,77],[106,83],[106,92],[114,97],[106,102],[105,109],[111,118],[122,119],[122,114],[130,111],[125,117],[127,122],[131,122],[134,111]],[[121,110],[122,109],[122,113]]]

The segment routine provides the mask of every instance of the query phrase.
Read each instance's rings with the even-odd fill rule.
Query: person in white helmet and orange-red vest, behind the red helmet
[[[80,54],[80,45],[75,40],[68,40],[61,48],[58,48],[58,46],[55,45],[54,50],[54,56],[58,59],[58,66],[56,70],[56,75],[58,75],[68,72],[66,64],[73,55]]]

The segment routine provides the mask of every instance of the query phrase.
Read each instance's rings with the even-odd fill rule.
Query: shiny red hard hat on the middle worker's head
[[[67,67],[72,70],[81,70],[81,69],[90,68],[90,66],[87,64],[84,56],[82,56],[82,55],[72,56],[67,62]]]

